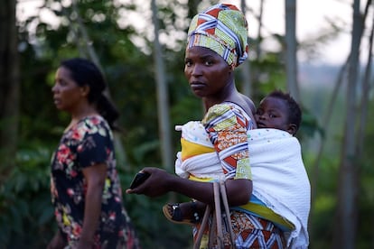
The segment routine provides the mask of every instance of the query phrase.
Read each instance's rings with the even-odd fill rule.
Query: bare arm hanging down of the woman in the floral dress
[[[84,168],[82,171],[87,182],[87,192],[83,226],[77,248],[89,248],[94,242],[94,235],[98,229],[102,194],[107,177],[107,165],[99,163]]]

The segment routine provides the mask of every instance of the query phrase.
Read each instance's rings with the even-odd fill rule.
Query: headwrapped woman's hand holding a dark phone
[[[170,180],[175,178],[168,172],[158,168],[144,168],[141,172],[149,173],[150,176],[135,189],[126,189],[127,194],[146,195],[148,197],[159,197],[170,191],[168,187]]]

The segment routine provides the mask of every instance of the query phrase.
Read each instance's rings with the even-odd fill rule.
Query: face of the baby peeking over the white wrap
[[[276,97],[264,98],[255,115],[257,128],[274,128],[291,133],[288,108],[285,101]]]

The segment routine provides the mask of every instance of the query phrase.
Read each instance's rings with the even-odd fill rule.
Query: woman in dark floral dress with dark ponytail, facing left
[[[58,231],[48,248],[139,248],[123,206],[113,145],[116,108],[103,95],[98,68],[85,59],[61,62],[55,106],[71,115],[51,159],[51,199]]]

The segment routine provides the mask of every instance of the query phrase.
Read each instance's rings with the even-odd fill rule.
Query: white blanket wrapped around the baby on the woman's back
[[[276,129],[248,131],[253,195],[295,225],[286,233],[287,247],[307,248],[310,183],[301,146],[292,135]]]

